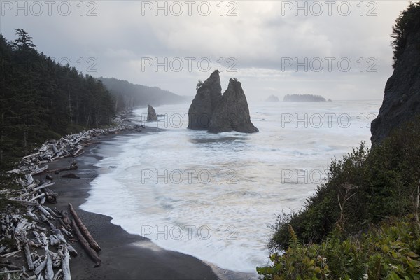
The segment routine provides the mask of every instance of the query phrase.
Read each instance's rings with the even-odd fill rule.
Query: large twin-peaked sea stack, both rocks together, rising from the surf
[[[221,79],[216,70],[197,89],[188,110],[188,128],[208,132],[258,132],[251,122],[248,102],[242,85],[230,79],[222,95]]]

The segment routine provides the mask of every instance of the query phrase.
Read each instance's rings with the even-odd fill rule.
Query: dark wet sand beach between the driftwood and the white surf
[[[146,128],[144,133],[155,129]],[[113,135],[101,136],[94,144],[85,148],[85,153],[76,158],[78,170],[50,174],[56,182],[52,190],[58,193],[57,204],[48,204],[57,209],[68,209],[73,204],[76,212],[96,239],[102,251],[102,265],[94,268],[94,262],[83,251],[80,244],[73,244],[79,255],[71,258],[73,279],[218,279],[211,267],[190,255],[167,251],[155,246],[149,239],[130,235],[123,228],[111,223],[111,217],[83,211],[79,208],[87,200],[90,181],[97,175],[94,163],[101,158],[92,149],[112,145]],[[123,136],[124,137],[124,136]],[[126,136],[130,137],[130,136]],[[66,167],[71,158],[62,158],[48,164],[50,170]],[[63,174],[74,173],[80,179],[62,179]],[[43,174],[42,176],[45,176]],[[35,176],[36,177],[36,176]],[[123,207],[123,205],[121,206]],[[230,278],[230,277],[229,277]]]

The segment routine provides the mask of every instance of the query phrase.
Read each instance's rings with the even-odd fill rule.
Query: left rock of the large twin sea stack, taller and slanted
[[[208,130],[211,116],[222,98],[221,78],[218,71],[211,73],[197,90],[197,94],[188,110],[188,128]]]

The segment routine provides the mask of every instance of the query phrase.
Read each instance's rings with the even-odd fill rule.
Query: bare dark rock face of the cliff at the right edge
[[[420,114],[420,31],[407,35],[407,43],[385,86],[384,101],[372,121],[372,146],[392,130]]]

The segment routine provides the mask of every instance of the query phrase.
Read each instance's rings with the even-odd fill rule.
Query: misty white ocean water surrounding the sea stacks
[[[260,132],[188,130],[189,104],[157,106],[158,133],[117,137],[100,153],[85,211],[222,269],[269,263],[269,225],[300,209],[332,158],[366,141],[381,100],[249,104]],[[147,108],[134,110],[145,119]],[[99,152],[98,152],[99,153]]]

